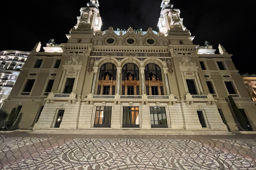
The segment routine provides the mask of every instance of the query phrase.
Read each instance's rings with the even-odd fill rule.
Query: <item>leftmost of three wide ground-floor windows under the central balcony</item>
[[[110,128],[111,126],[110,106],[97,106],[94,120],[94,128]]]

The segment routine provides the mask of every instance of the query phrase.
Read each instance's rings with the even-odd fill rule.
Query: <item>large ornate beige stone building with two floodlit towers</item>
[[[2,108],[20,108],[21,129],[228,134],[241,130],[231,95],[256,130],[255,105],[231,55],[221,45],[220,54],[207,43],[194,45],[170,0],[161,3],[159,32],[101,31],[98,6],[91,0],[81,8],[67,43],[31,51]]]

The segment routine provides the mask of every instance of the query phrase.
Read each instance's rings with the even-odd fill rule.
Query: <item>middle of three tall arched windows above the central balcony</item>
[[[133,63],[125,64],[122,69],[122,95],[139,95],[139,68]]]

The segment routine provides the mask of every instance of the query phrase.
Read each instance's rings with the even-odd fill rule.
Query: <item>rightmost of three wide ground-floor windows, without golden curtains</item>
[[[167,128],[165,107],[150,107],[151,128]]]

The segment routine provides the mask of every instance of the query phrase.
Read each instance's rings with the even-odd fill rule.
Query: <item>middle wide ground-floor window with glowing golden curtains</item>
[[[123,128],[139,128],[139,107],[123,107]]]

